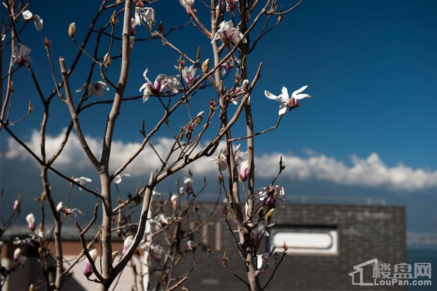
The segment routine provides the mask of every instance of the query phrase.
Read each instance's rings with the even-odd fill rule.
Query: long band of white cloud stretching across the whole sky
[[[65,130],[57,136],[46,136],[46,148],[48,157],[59,147]],[[101,139],[86,137],[88,145],[99,158],[101,153]],[[165,158],[172,145],[172,139],[157,138],[152,141],[156,151]],[[39,152],[40,136],[37,131],[31,134],[30,140],[26,144],[35,152]],[[139,143],[124,143],[114,141],[111,152],[111,169],[115,170],[123,164],[138,147]],[[219,147],[220,148],[220,147]],[[283,157],[286,169],[283,177],[294,179],[317,178],[332,181],[343,185],[359,185],[370,187],[387,187],[390,189],[416,191],[437,186],[437,171],[425,170],[422,168],[413,169],[402,163],[393,167],[388,167],[378,154],[371,153],[366,159],[352,156],[352,165],[337,161],[335,158],[317,154],[311,150],[306,150],[307,157],[298,157],[281,153],[269,153],[258,156],[255,159],[256,175],[261,178],[272,178],[278,171],[278,162]],[[12,138],[7,141],[7,150],[4,153],[7,159],[32,159],[32,157],[19,146]],[[61,171],[72,168],[79,176],[81,171],[92,167],[91,162],[86,158],[82,147],[72,132],[67,146],[62,154],[54,163],[56,168]],[[140,155],[125,170],[133,176],[148,175],[151,170],[159,168],[161,162],[156,157],[150,146],[146,146]],[[192,172],[202,176],[216,175],[218,173],[216,164],[209,161],[209,158],[202,158],[189,165]]]

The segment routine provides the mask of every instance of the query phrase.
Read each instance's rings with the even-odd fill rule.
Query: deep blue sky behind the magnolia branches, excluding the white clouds
[[[168,8],[169,3],[174,5],[171,9]],[[99,1],[74,1],[69,5],[62,1],[50,1],[50,4],[47,1],[32,2],[29,9],[44,19],[44,29],[38,32],[29,24],[21,38],[24,44],[32,48],[33,67],[41,76],[39,81],[46,95],[53,89],[53,85],[42,46],[44,36],[53,43],[51,55],[55,68],[58,67],[57,57],[60,55],[66,58],[67,65],[70,64],[77,48],[67,35],[68,24],[73,21],[77,23],[77,39],[81,42],[93,12],[99,5]],[[167,29],[180,26],[188,20],[177,0],[160,1],[152,7],[156,11],[156,19],[162,20]],[[198,1],[196,8],[200,16],[206,12]],[[309,158],[305,150],[310,149],[315,152],[312,155],[328,157],[352,167],[354,163],[350,159],[351,155],[366,160],[371,153],[376,153],[389,169],[403,163],[413,170],[423,169],[427,173],[436,173],[435,11],[437,2],[430,0],[304,1],[285,17],[276,30],[262,39],[248,58],[251,78],[258,63],[264,64],[262,77],[251,99],[256,131],[272,126],[277,118],[278,103],[264,97],[264,90],[279,94],[283,85],[291,92],[308,84],[307,93],[312,95],[312,98],[302,101],[299,109],[286,115],[279,129],[256,140],[257,155],[274,151],[307,161]],[[111,13],[112,10],[107,11],[96,27],[99,28]],[[201,16],[201,19],[204,23],[209,23],[207,18]],[[121,23],[118,24],[116,33],[121,33]],[[138,29],[135,37],[147,36],[144,29]],[[91,39],[94,41],[94,36]],[[172,33],[168,39],[192,58],[195,57],[199,45],[202,46],[201,58],[211,57],[209,40],[193,27]],[[108,38],[103,40],[103,43],[109,42]],[[118,42],[114,46],[119,49]],[[91,50],[93,47],[87,46],[86,49]],[[104,49],[107,47],[104,46]],[[7,59],[8,52],[5,56],[4,59]],[[162,47],[159,41],[136,42],[126,96],[138,94],[138,89],[144,82],[142,72],[146,67],[149,68],[151,79],[159,73],[176,74],[173,65],[178,57],[170,48]],[[71,87],[78,88],[84,83],[84,75],[85,72],[87,74],[89,65],[90,61],[83,57],[70,78]],[[109,70],[109,78],[117,80],[118,70],[119,61],[114,61]],[[20,69],[16,75],[13,116],[20,117],[26,111],[25,104],[29,99],[32,99],[35,111],[13,129],[18,136],[29,141],[32,131],[39,127],[41,106],[27,72]],[[98,74],[94,77],[94,80],[100,80]],[[192,104],[192,110],[207,110],[208,101],[214,96],[212,94],[211,91],[200,94],[195,104]],[[79,94],[76,97],[79,98]],[[111,97],[113,91],[104,98]],[[57,136],[67,126],[69,114],[65,104],[59,100],[52,103],[48,134]],[[162,112],[156,110],[159,106],[153,98],[146,103],[132,101],[123,104],[117,121],[116,140],[124,143],[141,142],[142,137],[138,134],[141,122],[145,119],[146,128],[151,129],[153,121],[162,115]],[[109,106],[103,105],[95,109],[93,112],[81,114],[81,122],[86,135],[100,139]],[[186,113],[177,113],[170,118],[170,122],[174,124],[179,121],[187,121]],[[242,125],[233,130],[234,136],[244,134]],[[168,137],[168,133],[160,131],[160,136]],[[211,136],[210,134],[206,137]],[[2,153],[10,151],[8,138],[7,133],[2,131]],[[12,164],[13,161],[3,156],[2,188],[15,189],[5,179],[9,174],[4,173],[5,164]],[[299,174],[293,175],[290,177],[299,177]],[[339,184],[333,192],[344,191],[341,187],[346,186],[343,184],[347,184],[348,193],[366,192],[353,188],[355,184],[356,187],[368,187],[364,189],[369,193],[383,189],[381,193],[394,195],[394,202],[398,202],[396,193],[403,193],[402,187],[395,187],[393,190],[391,184],[381,188],[380,184],[375,186],[362,181],[354,183],[353,179],[341,183],[336,178],[323,178],[323,175],[309,175],[299,179],[306,181],[305,183],[311,180],[328,180]],[[317,189],[320,191],[322,188]],[[416,192],[400,195],[411,197],[417,191],[435,194],[435,189],[436,186],[420,187],[414,189]],[[435,204],[436,198],[432,201]],[[412,202],[408,200],[405,203]],[[415,209],[413,215],[421,211],[420,208]]]

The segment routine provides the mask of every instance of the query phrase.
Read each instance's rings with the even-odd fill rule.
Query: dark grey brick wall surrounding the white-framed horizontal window
[[[213,204],[202,203],[203,212]],[[220,210],[223,206],[219,206]],[[336,255],[287,255],[279,266],[267,290],[404,290],[403,287],[353,286],[353,266],[377,258],[392,266],[405,262],[405,213],[399,206],[291,204],[274,212],[272,227],[331,227],[337,230]],[[217,211],[208,234],[210,256],[202,262],[184,284],[193,290],[241,290],[244,284],[220,263],[223,252],[229,257],[228,266],[245,278],[244,264],[235,252],[235,240],[224,219]],[[232,224],[231,224],[232,225]],[[220,229],[220,250],[216,250],[216,227]],[[201,234],[194,237],[200,241]],[[267,251],[265,244],[258,253]],[[199,254],[201,255],[201,253]],[[182,274],[193,260],[184,259],[177,268]],[[370,269],[372,267],[370,266]],[[261,275],[261,286],[268,280],[272,267]],[[369,270],[368,270],[369,271]],[[369,273],[367,273],[369,274]],[[371,277],[371,270],[370,270]],[[367,281],[372,282],[371,278]]]

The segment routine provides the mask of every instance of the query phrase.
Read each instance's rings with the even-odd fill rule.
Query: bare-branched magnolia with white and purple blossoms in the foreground
[[[208,251],[200,259],[195,257],[193,268],[187,270],[183,276],[172,275],[174,267],[185,255],[194,254],[196,246],[200,244],[200,242],[191,240],[192,234],[199,231],[201,227],[209,225],[209,220],[202,220],[197,215],[197,218],[194,218],[196,222],[194,227],[182,231],[186,222],[193,220],[193,215],[190,216],[189,213],[199,210],[194,200],[199,195],[202,196],[201,192],[205,183],[201,190],[195,192],[192,186],[192,174],[188,171],[177,194],[169,194],[166,198],[165,195],[156,192],[156,187],[169,176],[183,171],[191,163],[204,157],[210,157],[212,161],[217,162],[219,172],[218,199],[220,199],[221,192],[226,197],[226,207],[222,210],[222,216],[235,238],[235,250],[245,265],[246,277],[238,276],[235,273],[234,275],[244,282],[249,290],[263,290],[283,260],[287,250],[286,243],[284,243],[281,252],[275,252],[273,248],[266,254],[260,254],[258,248],[263,238],[268,236],[268,227],[274,224],[272,223],[273,211],[277,206],[282,206],[282,202],[285,201],[284,189],[275,185],[276,178],[285,166],[282,161],[278,161],[278,175],[272,177],[272,182],[269,185],[255,189],[253,141],[255,136],[278,128],[283,116],[299,107],[301,99],[310,96],[302,93],[306,86],[295,90],[291,95],[288,94],[285,86],[281,89],[273,84],[271,87],[265,88],[273,92],[265,90],[265,96],[280,103],[279,116],[274,126],[255,132],[251,112],[251,93],[261,77],[262,63],[250,65],[249,60],[250,54],[256,49],[258,42],[281,24],[285,15],[301,4],[302,0],[293,3],[294,6],[290,5],[290,7],[283,7],[281,3],[277,3],[277,0],[211,0],[210,3],[203,0],[196,3],[194,0],[180,0],[182,5],[180,9],[186,11],[186,14],[185,12],[181,14],[181,22],[184,23],[186,20],[188,22],[181,27],[171,28],[167,31],[160,21],[165,17],[165,11],[159,11],[159,9],[155,11],[154,2],[156,1],[117,0],[112,2],[103,0],[91,21],[91,25],[85,23],[85,20],[81,20],[81,23],[71,23],[69,27],[65,28],[65,33],[71,37],[71,46],[76,46],[78,51],[73,56],[59,57],[59,63],[53,60],[53,56],[50,54],[52,43],[46,38],[43,42],[43,48],[47,52],[47,62],[50,64],[51,74],[45,77],[53,80],[54,87],[49,93],[44,93],[40,87],[38,79],[41,77],[34,71],[31,49],[26,47],[26,41],[20,38],[20,33],[29,23],[33,23],[36,30],[43,30],[43,19],[31,12],[30,1],[5,0],[2,2],[8,16],[3,22],[1,55],[3,60],[3,53],[10,51],[11,57],[7,73],[3,73],[3,70],[1,72],[0,129],[7,131],[20,146],[24,147],[39,162],[43,186],[41,197],[38,198],[40,222],[37,226],[35,215],[33,213],[27,214],[25,219],[32,234],[28,239],[16,242],[19,246],[14,252],[14,262],[8,269],[2,270],[3,281],[10,272],[23,264],[24,256],[22,253],[26,246],[35,245],[38,247],[39,261],[47,281],[44,283],[46,288],[62,289],[65,280],[71,275],[73,266],[84,257],[86,259],[84,260],[83,274],[88,280],[96,283],[98,290],[108,290],[111,286],[116,285],[126,266],[131,266],[135,276],[141,278],[139,280],[142,282],[141,286],[135,282],[135,290],[153,288],[173,290],[177,288],[188,278],[192,269],[209,254]],[[209,16],[210,22],[208,23],[202,22],[200,19],[206,19]],[[102,17],[109,18],[106,18],[106,25],[97,29],[96,22]],[[178,30],[189,25],[198,30],[199,41],[202,38],[210,41],[209,48],[201,50],[199,47],[197,52],[183,51],[177,43],[168,39],[170,34],[178,33]],[[84,38],[79,40],[76,38],[76,30],[83,27],[89,27],[89,29]],[[33,28],[27,27],[26,29]],[[150,37],[135,39],[139,30],[150,34]],[[88,50],[85,47],[87,44],[89,47],[89,43],[92,43],[90,41],[92,35],[96,35],[97,40],[93,43],[94,50]],[[103,37],[109,38],[108,46],[102,44]],[[144,42],[155,39],[161,41]],[[120,46],[115,45],[116,43],[121,43],[121,49],[118,49]],[[152,76],[151,73],[148,73],[147,64],[143,64],[145,69],[143,73],[144,84],[128,83],[132,61],[131,52],[151,45],[168,46],[180,56],[174,64],[178,73],[175,76],[165,74]],[[104,52],[100,53],[101,51]],[[202,54],[212,55],[213,60],[202,60],[201,51]],[[81,92],[82,97],[77,98],[73,95],[75,92],[70,87],[69,79],[82,58],[89,60],[91,66],[86,74],[82,74],[84,85],[76,90],[76,92]],[[69,67],[66,65],[66,59],[71,60]],[[114,60],[118,59],[121,59],[120,67],[114,64],[111,66],[111,62],[115,63]],[[40,62],[43,60],[38,60],[38,63]],[[163,67],[159,69],[165,72],[173,70],[173,68]],[[235,70],[235,75],[230,74],[231,69]],[[36,95],[39,97],[39,100],[33,100],[33,102],[41,102],[42,104],[39,152],[34,152],[21,141],[11,128],[18,122],[26,122],[26,117],[33,113],[34,109],[29,101],[26,114],[15,121],[11,121],[9,118],[11,110],[13,110],[11,100],[15,94],[14,73],[17,70],[28,71],[34,82]],[[107,76],[110,70],[118,72],[118,81],[111,80]],[[158,68],[153,69],[153,71],[157,70]],[[94,79],[96,74],[99,75],[97,80]],[[138,88],[141,94],[126,96],[125,90],[128,85]],[[209,90],[213,88],[217,95],[205,101],[202,92],[207,87]],[[111,94],[109,100],[98,99],[98,97],[103,97],[105,93],[106,95]],[[143,106],[148,106],[148,100],[151,98],[159,100],[160,105],[154,111],[161,111],[162,117],[154,121],[154,127],[150,130],[146,130],[143,122],[142,129],[140,129],[143,136],[141,146],[129,153],[130,157],[115,171],[110,171],[112,141],[118,115],[122,110],[122,103],[142,99]],[[50,105],[54,102],[65,104],[71,115],[71,121],[67,125],[62,143],[52,156],[48,156],[45,141],[46,128],[50,122]],[[204,111],[197,115],[191,115],[190,104],[193,103],[201,104],[205,108]],[[83,127],[91,127],[92,125],[84,124],[80,119],[80,113],[96,108],[99,104],[112,104],[105,128],[101,132],[103,144],[100,158],[88,146],[82,130]],[[174,126],[173,123],[170,125],[169,117],[176,111],[186,111],[188,118],[180,119],[177,126]],[[244,136],[232,137],[231,129],[238,119],[245,121],[247,131]],[[152,120],[148,120],[148,124],[151,123]],[[214,123],[217,123],[218,127],[210,126]],[[173,140],[172,146],[165,154],[159,153],[151,143],[151,139],[161,128],[167,129]],[[86,183],[91,181],[90,178],[67,177],[52,166],[68,143],[73,129],[86,157],[99,175],[101,187],[98,190],[92,190],[86,186]],[[204,134],[207,131],[213,137],[206,140]],[[242,143],[242,147],[246,147],[247,152],[243,152],[240,144],[236,145],[236,141]],[[219,146],[220,142],[224,142],[225,146]],[[130,177],[129,174],[125,173],[125,169],[129,169],[130,164],[146,146],[153,149],[161,166],[150,173],[150,176],[143,181],[144,186],[138,186],[134,195],[122,195],[118,191],[118,187],[116,187],[118,193],[111,193],[113,183],[117,186],[122,180]],[[213,154],[215,157],[212,157]],[[70,190],[62,201],[55,201],[53,198],[48,178],[49,171],[70,183]],[[184,170],[184,172],[187,171]],[[62,225],[68,216],[75,217],[81,213],[78,209],[68,207],[71,191],[75,187],[97,197],[101,202],[101,207],[99,210],[99,206],[96,204],[93,217],[88,225],[80,226],[78,222],[75,222],[83,252],[76,259],[66,262],[62,249]],[[186,199],[183,199],[184,197]],[[153,200],[155,202],[152,203]],[[216,207],[208,214],[209,216],[212,216],[217,208],[218,201]],[[2,232],[16,221],[20,204],[21,197],[17,197],[14,212],[3,223]],[[47,213],[46,208],[49,210]],[[139,212],[138,219],[135,219],[136,216],[133,215],[133,211],[136,209]],[[36,210],[34,212],[37,213]],[[54,221],[52,229],[45,229],[48,228],[45,227],[46,215],[51,215]],[[86,242],[84,235],[94,229],[92,226],[96,221],[98,221],[98,231],[93,240]],[[159,239],[160,235],[163,236],[161,239]],[[112,241],[115,236],[124,240],[121,254],[113,249]],[[51,250],[48,245],[50,241],[54,241],[54,250]],[[98,243],[99,249],[92,247],[94,242]],[[180,242],[185,243],[181,244]],[[138,260],[140,256],[138,250],[141,248],[144,249],[144,259]],[[50,264],[50,258],[55,259],[54,266]],[[234,272],[228,268],[228,260],[224,254],[221,263],[227,270]],[[156,267],[157,265],[159,267]],[[272,268],[273,272],[266,279],[267,284],[261,286],[259,276],[268,268]],[[160,274],[158,283],[156,286],[151,286],[149,274],[156,274],[157,270]],[[53,274],[50,275],[50,272]]]

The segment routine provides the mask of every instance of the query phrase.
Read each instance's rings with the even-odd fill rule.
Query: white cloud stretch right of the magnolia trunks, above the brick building
[[[256,160],[258,176],[269,178],[275,175],[280,156],[276,153],[259,157]],[[437,186],[437,171],[413,169],[402,163],[388,167],[377,153],[371,153],[367,159],[352,156],[351,166],[323,154],[312,154],[307,158],[282,156],[286,165],[284,176],[289,178],[318,178],[344,185],[382,186],[407,191]]]

